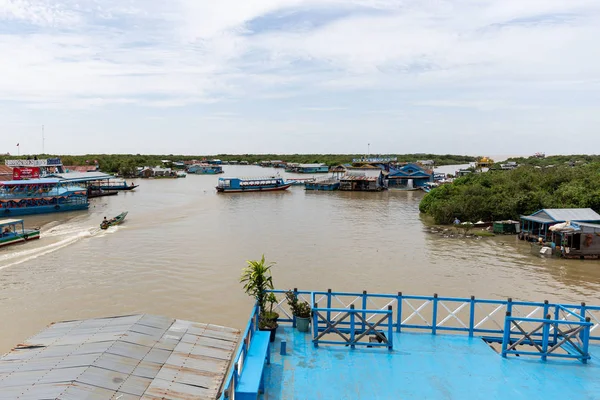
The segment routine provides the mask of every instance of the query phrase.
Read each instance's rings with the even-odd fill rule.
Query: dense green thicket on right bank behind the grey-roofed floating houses
[[[582,156],[595,157],[591,160],[597,162],[574,167],[557,161],[570,162],[574,157],[554,157],[547,164],[556,165],[554,168],[523,166],[469,174],[433,189],[419,209],[438,224],[450,224],[455,217],[463,222],[515,220],[542,208],[590,207],[600,211],[600,157]]]

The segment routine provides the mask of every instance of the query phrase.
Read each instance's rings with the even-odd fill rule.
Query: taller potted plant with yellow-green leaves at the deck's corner
[[[267,263],[263,254],[260,261],[247,261],[248,265],[242,270],[240,282],[244,284],[244,291],[256,300],[258,305],[258,329],[269,331],[271,342],[275,340],[275,331],[279,326],[277,318],[279,315],[273,312],[273,303],[277,298],[268,290],[273,289],[273,277],[271,276],[271,267],[274,263]],[[267,303],[270,308],[267,311]]]

